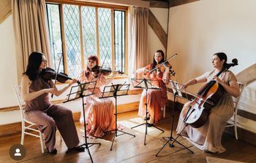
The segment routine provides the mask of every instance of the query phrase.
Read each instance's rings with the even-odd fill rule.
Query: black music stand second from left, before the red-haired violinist
[[[116,108],[116,113],[115,113],[116,127],[115,127],[114,130],[107,131],[107,132],[115,131],[110,151],[112,151],[113,143],[114,143],[114,140],[115,140],[116,137],[124,135],[124,134],[128,134],[128,135],[131,135],[131,136],[135,137],[135,135],[132,135],[128,132],[118,130],[118,128],[117,128],[117,97],[122,96],[122,95],[128,95],[128,90],[129,90],[129,84],[116,84],[116,85],[112,84],[110,86],[105,86],[104,90],[102,92],[102,97],[101,98],[112,98],[113,97],[113,98],[115,98],[115,101],[116,101],[116,106],[115,106],[115,108]],[[117,135],[117,132],[123,132],[123,133],[120,134],[120,135]]]

